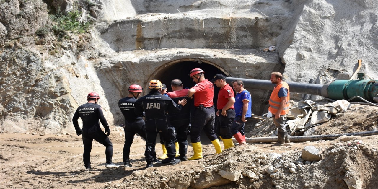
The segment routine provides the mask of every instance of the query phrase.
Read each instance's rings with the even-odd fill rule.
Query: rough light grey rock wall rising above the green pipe
[[[326,84],[335,79],[348,80],[358,59],[363,60],[359,72],[378,78],[376,1],[293,3],[298,9],[290,29],[277,43],[289,81],[306,83],[316,79],[317,84]]]

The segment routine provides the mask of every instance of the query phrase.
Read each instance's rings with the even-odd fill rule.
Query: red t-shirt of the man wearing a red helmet
[[[212,102],[214,98],[214,85],[209,80],[205,79],[194,87],[194,106],[199,106],[203,104],[204,107],[212,107],[214,103]]]

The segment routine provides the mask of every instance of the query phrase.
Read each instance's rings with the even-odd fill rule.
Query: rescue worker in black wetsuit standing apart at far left
[[[112,163],[113,144],[108,137],[110,135],[110,129],[104,117],[104,113],[102,113],[102,107],[97,104],[99,99],[100,96],[97,93],[89,93],[87,96],[88,103],[77,108],[72,118],[77,136],[82,134],[84,144],[83,160],[86,169],[92,169],[90,154],[93,139],[106,147],[105,167],[119,167]],[[79,127],[79,122],[77,121],[79,118],[83,121],[83,129]],[[102,126],[105,128],[105,133],[107,134],[101,130],[99,121],[101,121]]]

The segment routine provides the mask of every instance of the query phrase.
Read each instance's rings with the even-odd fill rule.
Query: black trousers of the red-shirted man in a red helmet
[[[213,107],[195,108],[191,118],[191,142],[198,143],[201,141],[201,130],[205,131],[206,136],[211,140],[217,139],[214,131],[215,111]]]

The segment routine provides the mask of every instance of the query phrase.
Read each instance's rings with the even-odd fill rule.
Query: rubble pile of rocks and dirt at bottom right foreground
[[[364,144],[358,136],[342,136],[328,144],[316,142],[314,146],[308,143],[283,153],[262,152],[252,145],[245,149],[235,147],[196,162],[201,169],[172,169],[170,176],[159,168],[147,174],[136,171],[132,178],[113,187],[133,187],[138,182],[141,188],[363,189],[376,184],[377,175],[368,170],[378,166],[377,146]],[[298,179],[302,181],[293,182]]]

